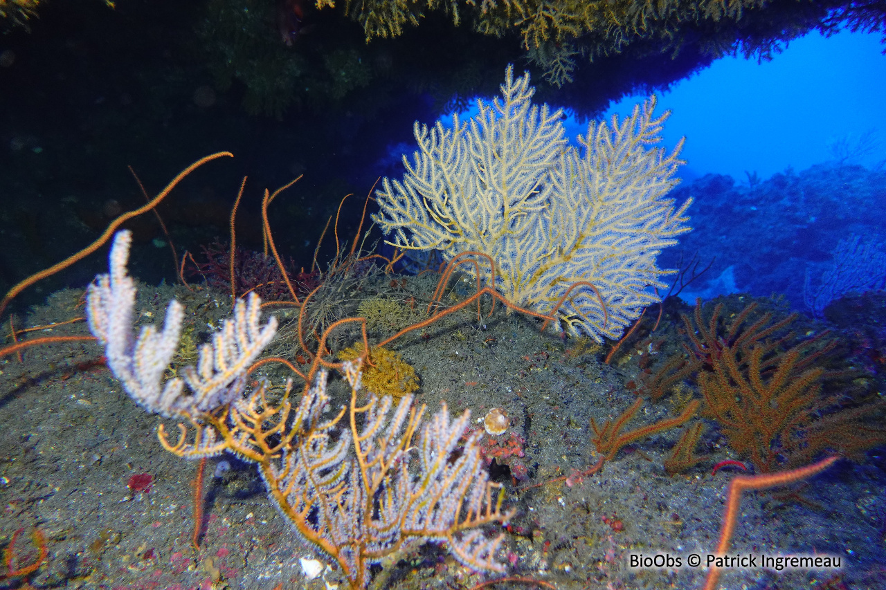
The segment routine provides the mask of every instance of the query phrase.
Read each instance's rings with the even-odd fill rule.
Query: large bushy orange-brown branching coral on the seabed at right
[[[827,332],[797,338],[789,331],[796,315],[774,321],[762,314],[751,322],[751,303],[724,324],[722,304],[703,317],[683,316],[692,357],[676,369],[680,378],[696,373],[703,415],[717,420],[729,446],[758,470],[769,472],[812,462],[824,451],[858,455],[886,442],[882,421],[886,401],[852,402],[846,395],[826,396],[822,385],[837,343]],[[668,362],[661,373],[673,371]],[[852,373],[854,375],[854,373]],[[668,382],[661,375],[653,384]]]

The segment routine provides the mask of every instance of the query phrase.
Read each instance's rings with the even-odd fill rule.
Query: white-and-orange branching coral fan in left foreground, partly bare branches
[[[190,458],[229,451],[256,463],[268,496],[299,537],[329,555],[354,590],[369,584],[370,566],[426,540],[446,542],[472,569],[504,570],[496,555],[503,534],[488,539],[480,527],[507,523],[513,511],[502,511],[501,485],[483,467],[481,436],[460,444],[470,411],[452,419],[444,403],[420,429],[424,406],[414,407],[411,395],[396,407],[392,398],[375,395],[358,405],[360,360],[338,364],[351,395],[337,415],[327,412],[328,373],[318,370],[318,358],[297,404],[289,400],[291,381],[281,400],[271,399],[264,382],[247,389],[250,365],[276,332],[275,318],[260,323],[254,293],[248,302],[237,300],[233,318],[201,347],[196,368],[162,384],[183,307],[171,302],[162,330],[147,326],[133,335],[130,240],[126,231],[115,237],[110,274],[89,286],[89,328],[133,400],[190,424],[190,432],[178,424],[175,441],[160,425],[160,443],[168,451]]]

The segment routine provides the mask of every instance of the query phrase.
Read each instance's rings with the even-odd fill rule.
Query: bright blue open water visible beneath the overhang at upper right
[[[864,136],[872,149],[851,163],[881,165],[886,160],[882,50],[879,34],[843,31],[826,38],[813,31],[789,43],[772,61],[722,58],[677,82],[659,94],[657,113],[672,112],[664,126],[664,145],[687,138],[681,157],[688,165],[680,176],[716,173],[746,181],[747,171],[766,179],[788,167],[799,171],[835,159],[835,142],[857,144]],[[519,74],[519,67],[515,69]],[[645,97],[625,97],[610,105],[606,119],[629,115]],[[474,113],[476,107],[460,116]],[[587,129],[574,117],[565,125],[571,138]]]

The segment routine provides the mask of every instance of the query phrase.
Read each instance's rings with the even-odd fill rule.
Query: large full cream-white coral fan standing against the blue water
[[[419,151],[404,157],[402,182],[385,178],[373,220],[403,249],[480,254],[468,272],[494,276],[518,306],[556,309],[571,334],[618,338],[659,300],[650,287],[664,288],[669,271],[657,255],[689,230],[690,201],[664,198],[682,142],[670,154],[650,147],[668,116],[653,117],[651,97],[611,127],[591,122],[579,151],[561,111],[532,105],[533,92],[529,74],[515,80],[509,66],[501,99],[478,100],[470,121],[416,122]]]

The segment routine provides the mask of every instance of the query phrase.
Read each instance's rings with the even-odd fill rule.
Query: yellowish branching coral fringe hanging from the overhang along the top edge
[[[882,2],[782,3],[761,0],[346,0],[345,12],[363,27],[367,41],[394,37],[419,25],[430,12],[443,12],[484,35],[519,35],[527,57],[548,82],[571,82],[579,57],[653,50],[676,55],[684,45],[712,57],[740,50],[746,57],[768,57],[779,43],[813,27],[823,33],[848,23],[853,30],[883,31]],[[335,0],[316,0],[318,8]]]

